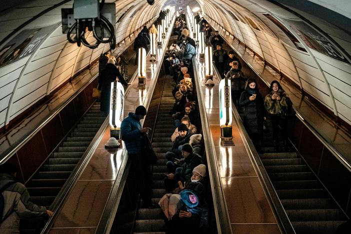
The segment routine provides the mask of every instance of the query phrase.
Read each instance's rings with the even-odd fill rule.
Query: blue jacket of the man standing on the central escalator
[[[140,120],[132,112],[129,112],[120,124],[120,135],[129,154],[141,152],[144,139],[140,128]]]

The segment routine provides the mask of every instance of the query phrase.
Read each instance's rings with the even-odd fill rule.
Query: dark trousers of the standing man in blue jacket
[[[152,168],[147,164],[141,154],[129,154],[131,157],[131,169],[135,176],[136,187],[143,199],[144,205],[151,204],[152,197]]]

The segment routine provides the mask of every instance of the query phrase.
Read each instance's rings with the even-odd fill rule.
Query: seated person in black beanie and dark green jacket
[[[167,192],[177,187],[178,181],[184,182],[190,180],[192,170],[198,164],[202,164],[201,156],[192,152],[192,147],[189,143],[181,146],[181,155],[183,156],[183,164],[179,168],[174,168],[175,173],[171,172],[164,178],[164,185]],[[168,164],[167,164],[168,169]]]

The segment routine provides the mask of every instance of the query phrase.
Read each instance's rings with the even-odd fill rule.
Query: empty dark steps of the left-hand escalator
[[[67,178],[79,162],[91,140],[100,128],[106,116],[100,111],[100,104],[95,102],[78,122],[69,136],[53,152],[25,185],[30,200],[38,205],[48,206],[64,186]],[[21,233],[34,233],[40,228],[40,218],[21,219]]]

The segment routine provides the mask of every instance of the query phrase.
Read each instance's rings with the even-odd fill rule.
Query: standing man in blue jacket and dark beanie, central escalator
[[[147,137],[149,127],[141,127],[140,119],[146,115],[146,108],[136,107],[135,112],[129,112],[120,124],[120,135],[124,140],[128,156],[131,158],[131,169],[135,174],[137,189],[143,199],[143,206],[152,208],[152,170],[141,149]]]

